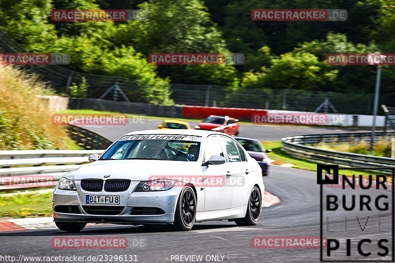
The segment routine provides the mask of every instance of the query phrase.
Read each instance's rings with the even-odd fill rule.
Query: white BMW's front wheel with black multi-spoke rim
[[[194,190],[185,186],[178,197],[174,228],[177,231],[191,230],[196,221],[196,196]]]

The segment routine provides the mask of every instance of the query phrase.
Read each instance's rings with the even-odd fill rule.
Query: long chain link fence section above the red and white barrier
[[[348,114],[372,114],[373,110],[374,94],[296,89],[240,90],[235,92],[221,86],[172,84],[171,97],[177,104],[196,106]],[[382,94],[380,104],[395,106],[395,95]]]

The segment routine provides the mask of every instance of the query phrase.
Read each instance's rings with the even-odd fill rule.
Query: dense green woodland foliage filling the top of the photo
[[[52,9],[141,9],[146,20],[53,22]],[[260,22],[258,8],[341,8],[343,22]],[[32,52],[67,52],[72,70],[136,79],[147,102],[169,101],[169,83],[232,91],[372,93],[376,68],[330,66],[327,53],[395,53],[395,0],[0,0],[0,27]],[[156,66],[150,53],[244,53],[244,65]],[[382,92],[395,92],[385,67]],[[265,90],[265,91],[264,91]],[[166,98],[163,98],[166,97]],[[232,96],[231,96],[232,97]]]

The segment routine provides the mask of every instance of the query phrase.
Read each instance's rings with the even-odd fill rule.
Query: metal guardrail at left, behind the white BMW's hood
[[[69,126],[71,137],[85,149],[106,149],[111,141],[78,126]],[[54,186],[67,172],[88,163],[92,153],[104,150],[0,150],[0,190]]]

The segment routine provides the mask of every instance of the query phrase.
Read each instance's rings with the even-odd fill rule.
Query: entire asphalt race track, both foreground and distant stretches
[[[133,124],[134,127],[114,129],[114,127],[90,128],[111,139],[134,129],[155,128],[160,121],[149,120],[145,124]],[[113,133],[113,131],[116,132]],[[111,132],[110,132],[111,131]],[[281,137],[296,134],[312,134],[339,132],[338,129],[317,129],[302,127],[278,127],[242,125],[243,136],[256,137],[260,140],[279,140]],[[117,134],[115,134],[117,133]],[[138,262],[319,262],[319,248],[261,248],[253,247],[254,237],[310,237],[319,238],[319,186],[314,172],[303,171],[287,167],[271,166],[269,177],[264,178],[266,190],[281,198],[281,202],[264,208],[261,219],[256,226],[237,227],[228,221],[215,221],[196,224],[188,232],[173,232],[166,228],[148,226],[124,225],[94,225],[87,226],[77,234],[60,230],[25,230],[0,234],[0,255],[15,256],[84,256],[101,257],[101,262],[110,262],[108,256],[131,255]],[[324,186],[326,193],[344,193],[341,188]],[[360,193],[361,189],[353,190]],[[384,190],[370,189],[363,192],[374,200],[375,196]],[[391,196],[391,195],[390,195]],[[339,202],[341,203],[341,202]],[[347,201],[346,203],[349,203]],[[358,204],[359,202],[356,202]],[[374,204],[373,204],[374,206]],[[391,207],[391,205],[390,205]],[[368,219],[367,215],[369,216]],[[347,219],[345,218],[347,216]],[[358,217],[358,218],[356,218]],[[329,223],[325,223],[326,220]],[[340,240],[340,248],[333,252],[330,260],[361,259],[357,255],[355,240],[371,238],[372,245],[363,245],[364,251],[372,251],[371,260],[383,260],[378,257],[377,240],[381,236],[389,237],[391,255],[391,213],[377,212],[375,209],[369,214],[363,212],[336,211],[335,216],[324,216],[323,236],[336,237]],[[347,223],[345,223],[347,221]],[[378,222],[380,221],[380,222]],[[363,229],[363,230],[362,230]],[[125,249],[54,249],[53,238],[126,238],[128,247]],[[351,256],[346,257],[346,239],[351,238]],[[273,247],[273,246],[272,246]],[[324,253],[326,250],[324,248]],[[107,260],[105,260],[107,255]],[[182,258],[180,256],[183,256]],[[202,260],[186,258],[201,255]],[[213,256],[213,258],[210,258]],[[217,256],[218,258],[215,258]],[[208,258],[206,258],[208,257]],[[223,258],[222,258],[223,257]],[[176,260],[178,259],[178,260]],[[208,259],[208,260],[207,260]],[[385,258],[391,259],[391,258]],[[113,262],[121,262],[112,259]],[[100,262],[100,260],[97,260]],[[1,260],[0,260],[1,262]],[[92,260],[91,260],[92,262]],[[124,261],[123,261],[124,262]]]

